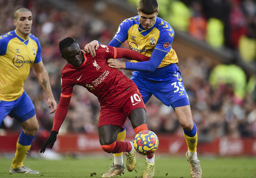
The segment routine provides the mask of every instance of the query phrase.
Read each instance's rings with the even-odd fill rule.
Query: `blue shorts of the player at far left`
[[[7,115],[18,122],[24,122],[35,115],[35,107],[25,91],[17,100],[0,100],[0,124]]]

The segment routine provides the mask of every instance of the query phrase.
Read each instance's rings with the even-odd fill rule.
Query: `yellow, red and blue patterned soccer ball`
[[[157,150],[157,135],[150,130],[142,130],[134,137],[133,146],[139,154],[149,155]]]

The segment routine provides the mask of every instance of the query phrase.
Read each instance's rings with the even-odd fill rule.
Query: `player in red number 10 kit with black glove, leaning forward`
[[[132,171],[136,166],[135,149],[132,141],[117,140],[118,133],[124,129],[127,117],[131,120],[136,133],[148,130],[146,124],[146,109],[137,85],[127,78],[121,71],[108,66],[107,59],[126,58],[137,61],[147,61],[149,57],[130,49],[115,48],[100,45],[96,56],[80,50],[75,39],[67,37],[60,41],[61,56],[68,63],[62,69],[62,91],[60,102],[57,106],[52,131],[40,150],[45,152],[47,145],[54,145],[58,131],[63,123],[72,90],[75,85],[85,87],[89,92],[97,96],[101,110],[99,115],[99,142],[107,153],[127,152],[126,166]],[[119,175],[124,173],[122,165]],[[143,172],[143,177],[153,177]],[[109,177],[107,173],[102,177]]]

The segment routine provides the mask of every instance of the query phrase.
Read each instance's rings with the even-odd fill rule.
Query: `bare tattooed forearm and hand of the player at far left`
[[[40,63],[34,63],[33,67],[35,69],[35,73],[37,74],[40,85],[45,90],[45,93],[48,96],[48,106],[49,109],[52,108],[52,110],[50,111],[50,113],[52,114],[56,111],[57,103],[52,94],[48,73],[42,61]]]

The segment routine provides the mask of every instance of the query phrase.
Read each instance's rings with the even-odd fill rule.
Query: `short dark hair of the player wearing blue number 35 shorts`
[[[158,10],[158,2],[157,0],[140,0],[138,10],[147,15],[154,14]]]

